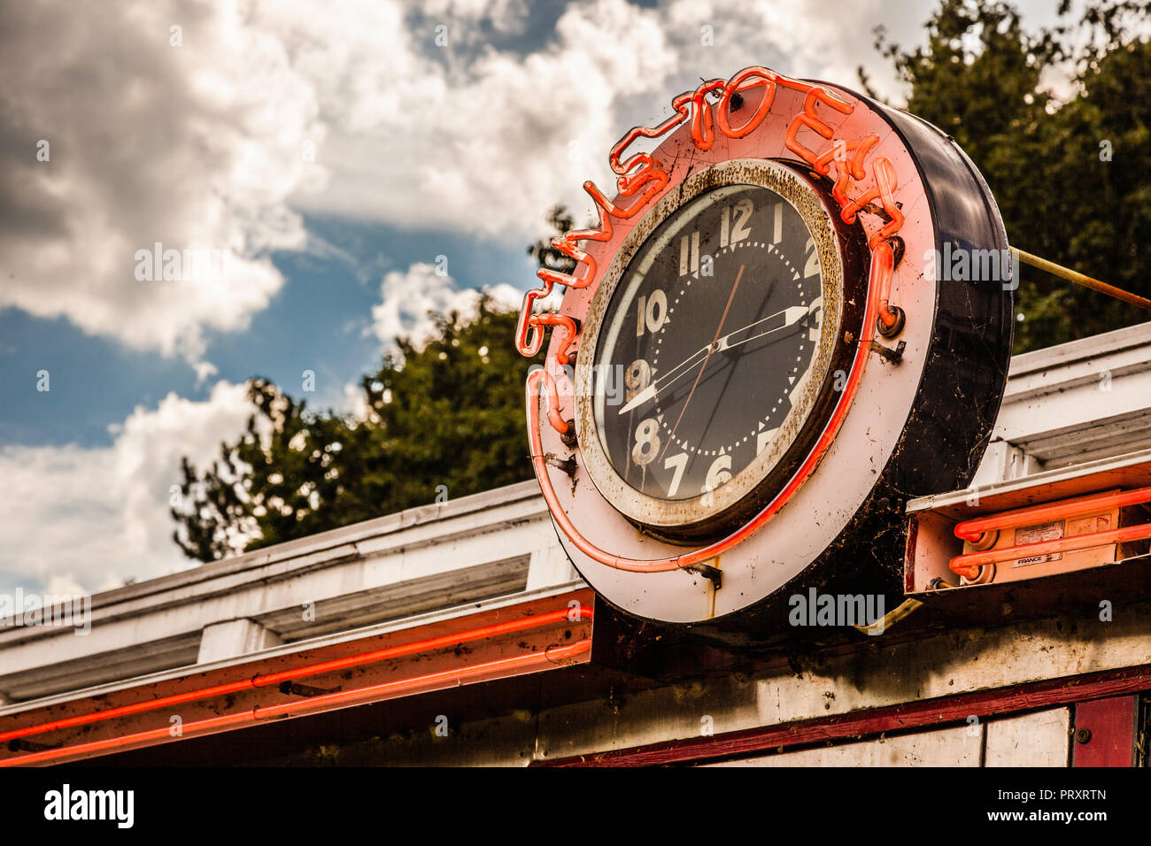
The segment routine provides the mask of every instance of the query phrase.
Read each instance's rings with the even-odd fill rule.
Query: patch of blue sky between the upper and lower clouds
[[[436,256],[467,257],[452,267],[460,289],[513,283],[527,288],[535,267],[525,245],[450,231],[406,231],[331,214],[305,215],[308,236],[335,250],[280,251],[272,257],[285,280],[272,303],[242,333],[215,331],[206,358],[215,379],[242,382],[262,375],[289,392],[302,390],[302,373],[315,373],[321,407],[343,403],[343,386],[380,365],[380,340],[369,333],[380,279],[388,270],[434,262]],[[338,252],[336,252],[338,251]],[[162,283],[158,283],[162,284]],[[29,390],[47,369],[51,390]],[[0,443],[109,447],[137,405],[154,406],[169,391],[206,398],[213,380],[197,384],[181,358],[124,348],[90,335],[62,318],[37,318],[20,308],[0,311]]]

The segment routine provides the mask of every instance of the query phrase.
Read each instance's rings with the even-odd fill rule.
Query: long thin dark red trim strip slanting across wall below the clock
[[[859,740],[923,726],[962,724],[969,716],[990,717],[1013,711],[1083,702],[1102,696],[1135,694],[1151,689],[1151,664],[1107,670],[1060,679],[1045,679],[1015,687],[978,691],[955,696],[872,708],[834,717],[806,719],[784,725],[747,729],[714,737],[670,740],[593,755],[556,761],[535,761],[533,767],[655,767],[763,754],[770,749]]]

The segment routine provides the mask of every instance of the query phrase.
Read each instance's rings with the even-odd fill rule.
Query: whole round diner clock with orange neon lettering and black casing
[[[528,440],[604,600],[754,639],[807,586],[898,590],[904,503],[970,481],[1012,285],[928,261],[1007,239],[951,138],[846,89],[753,67],[672,108],[612,147],[599,226],[554,242],[576,269],[525,297],[519,351],[551,330]]]

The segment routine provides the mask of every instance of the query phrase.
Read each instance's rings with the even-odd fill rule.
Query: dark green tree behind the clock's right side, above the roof
[[[876,40],[909,85],[907,110],[954,136],[983,173],[1013,245],[1143,296],[1151,45],[1130,32],[1146,20],[1146,3],[1096,0],[1075,24],[1028,33],[1007,3],[944,0],[924,45],[902,49],[882,29]],[[1068,68],[1070,93],[1057,99],[1044,85]],[[1026,266],[1016,305],[1016,352],[1146,319]]]

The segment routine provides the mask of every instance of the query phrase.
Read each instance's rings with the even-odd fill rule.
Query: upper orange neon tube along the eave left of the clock
[[[565,608],[558,611],[549,611],[548,613],[524,617],[523,619],[509,620],[508,623],[495,623],[489,626],[471,628],[466,632],[455,632],[439,638],[428,638],[426,640],[412,641],[411,643],[401,643],[399,646],[374,649],[369,653],[363,653],[361,655],[350,655],[346,658],[334,658],[318,664],[307,664],[291,670],[281,670],[280,672],[268,673],[266,676],[257,673],[252,678],[243,679],[242,681],[229,681],[222,685],[213,685],[212,687],[188,691],[186,693],[176,693],[170,696],[150,699],[145,702],[134,702],[132,704],[120,706],[119,708],[108,708],[102,711],[53,719],[47,723],[39,723],[23,729],[0,732],[0,740],[12,740],[15,738],[28,737],[29,734],[43,734],[44,732],[55,731],[56,729],[67,729],[74,725],[84,725],[85,723],[97,723],[105,719],[113,719],[114,717],[123,717],[128,714],[139,714],[140,711],[151,711],[167,706],[193,702],[199,699],[208,699],[209,696],[222,696],[238,691],[246,691],[252,687],[268,687],[270,685],[279,685],[281,681],[292,681],[299,678],[307,678],[308,676],[319,676],[325,672],[344,670],[350,666],[374,664],[380,661],[387,661],[388,658],[403,657],[405,655],[413,655],[421,651],[433,651],[435,649],[458,646],[459,643],[483,640],[486,638],[495,638],[501,634],[521,632],[526,628],[539,628],[548,623],[558,623],[561,620],[574,622],[569,619],[569,615],[573,610],[576,609]],[[579,622],[593,618],[592,609],[587,605],[580,605],[579,615]]]

